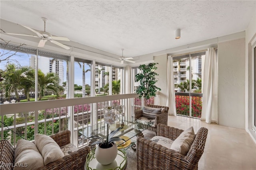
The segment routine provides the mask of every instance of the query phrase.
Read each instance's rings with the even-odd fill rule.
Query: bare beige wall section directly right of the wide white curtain
[[[218,123],[244,129],[245,39],[218,43]]]

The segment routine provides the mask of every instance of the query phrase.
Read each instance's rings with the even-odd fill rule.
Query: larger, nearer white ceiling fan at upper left
[[[35,35],[26,35],[26,34],[16,34],[16,33],[7,33],[7,34],[10,34],[10,35],[24,35],[24,36],[29,36],[29,37],[38,37],[38,38],[41,38],[41,40],[39,41],[39,44],[38,44],[38,47],[44,47],[44,44],[46,43],[46,41],[50,41],[51,43],[54,43],[64,49],[70,49],[70,47],[62,44],[62,43],[59,43],[58,41],[55,41],[55,40],[60,40],[60,41],[70,41],[67,37],[57,37],[57,36],[52,36],[52,34],[48,33],[45,31],[45,23],[47,21],[46,18],[42,17],[42,20],[44,21],[44,31],[36,31],[30,27],[27,27],[25,25],[21,25],[27,29],[29,29],[30,31],[33,31],[34,33],[36,33],[37,36]]]

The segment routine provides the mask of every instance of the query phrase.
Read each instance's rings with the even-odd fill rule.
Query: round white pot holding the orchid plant
[[[96,146],[95,149],[95,157],[96,160],[102,165],[108,165],[111,164],[116,156],[117,156],[117,146],[116,143],[109,144],[111,147],[109,148],[101,148],[102,144],[99,144]]]

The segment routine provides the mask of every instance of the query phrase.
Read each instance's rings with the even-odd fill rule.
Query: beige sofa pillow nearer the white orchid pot
[[[50,164],[64,156],[59,145],[47,135],[36,134],[35,144],[44,158],[44,165]]]

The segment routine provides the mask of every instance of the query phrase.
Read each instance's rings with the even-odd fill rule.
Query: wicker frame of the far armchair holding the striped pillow
[[[155,126],[148,128],[148,130],[157,133],[157,125],[158,125],[158,124],[167,125],[169,107],[166,107],[166,106],[158,106],[158,105],[147,105],[147,106],[148,106],[148,107],[155,107],[155,108],[165,108],[163,113],[161,113],[161,114],[159,114],[159,115],[156,115],[156,117],[155,117],[155,119],[154,119]],[[136,119],[139,119],[140,117],[142,117],[142,110],[134,111],[134,115],[135,115],[135,120],[136,120]]]

